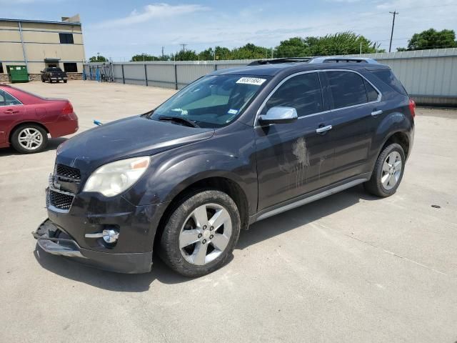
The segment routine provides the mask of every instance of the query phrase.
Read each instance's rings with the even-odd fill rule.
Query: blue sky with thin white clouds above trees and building
[[[164,0],[165,1],[165,0]],[[457,1],[441,0],[0,0],[0,17],[58,21],[80,14],[86,57],[114,61],[134,54],[165,54],[246,43],[274,47],[293,36],[354,31],[388,50],[392,14],[398,11],[392,50],[429,28],[457,31]]]

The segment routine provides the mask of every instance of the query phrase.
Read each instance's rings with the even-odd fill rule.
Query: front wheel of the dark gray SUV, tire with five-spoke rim
[[[189,194],[165,224],[159,256],[179,274],[201,277],[224,265],[240,228],[238,207],[227,194],[216,190]]]

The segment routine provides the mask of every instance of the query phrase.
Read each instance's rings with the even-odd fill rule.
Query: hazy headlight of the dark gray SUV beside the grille
[[[121,159],[96,169],[84,186],[83,192],[99,192],[114,197],[131,187],[149,166],[149,156]]]

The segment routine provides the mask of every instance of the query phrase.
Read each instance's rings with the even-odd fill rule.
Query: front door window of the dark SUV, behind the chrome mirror
[[[262,114],[275,106],[293,107],[298,116],[321,112],[322,91],[318,74],[301,74],[285,81],[266,101]]]

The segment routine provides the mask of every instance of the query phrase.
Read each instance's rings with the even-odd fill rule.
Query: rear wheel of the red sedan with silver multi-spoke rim
[[[11,135],[11,145],[22,154],[34,154],[43,151],[47,144],[48,134],[46,130],[36,124],[21,125]]]

